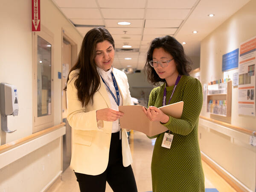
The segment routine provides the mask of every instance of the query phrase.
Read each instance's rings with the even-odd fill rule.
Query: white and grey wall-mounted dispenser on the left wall
[[[18,115],[18,94],[17,89],[12,84],[0,84],[0,112],[1,112],[1,128],[6,133],[14,131],[7,127],[7,115]],[[15,130],[16,131],[16,130]]]

